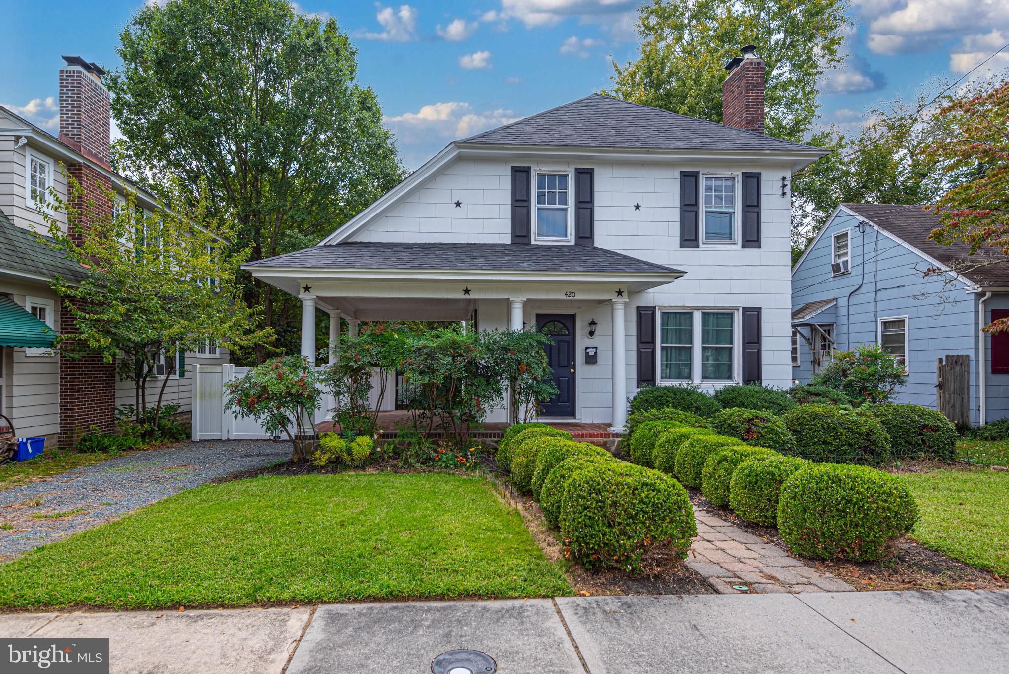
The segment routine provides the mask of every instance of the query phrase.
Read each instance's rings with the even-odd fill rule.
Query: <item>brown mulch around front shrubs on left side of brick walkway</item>
[[[543,510],[532,496],[520,494],[497,480],[498,493],[509,505],[522,514],[526,528],[540,546],[547,561],[564,559],[564,546],[557,534],[550,528]],[[623,594],[714,594],[714,589],[697,572],[682,560],[673,557],[669,550],[657,549],[645,555],[641,575],[632,575],[619,569],[588,571],[575,562],[568,561],[564,575],[575,593],[581,596]]]

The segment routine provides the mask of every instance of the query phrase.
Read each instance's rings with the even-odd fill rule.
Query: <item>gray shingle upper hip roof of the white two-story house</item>
[[[540,112],[458,143],[635,150],[827,151],[602,94]]]

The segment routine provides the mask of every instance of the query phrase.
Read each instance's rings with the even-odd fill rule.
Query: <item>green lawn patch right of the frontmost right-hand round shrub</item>
[[[1009,575],[1009,473],[940,470],[900,477],[921,507],[915,538],[954,559]]]

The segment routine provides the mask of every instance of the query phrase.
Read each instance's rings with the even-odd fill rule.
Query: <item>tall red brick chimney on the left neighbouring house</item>
[[[81,217],[71,223],[70,234],[80,242],[92,218],[112,214],[108,194],[112,180],[107,171],[110,154],[109,91],[102,84],[105,71],[81,57],[64,57],[60,69],[60,141],[80,153],[86,161],[68,162],[67,173],[83,194],[68,195]],[[103,171],[103,169],[105,171]],[[91,202],[89,205],[89,201]],[[77,326],[70,311],[61,312],[61,332],[72,334]],[[60,358],[61,446],[76,445],[92,426],[103,432],[114,425],[116,405],[115,366],[100,356],[79,360]]]

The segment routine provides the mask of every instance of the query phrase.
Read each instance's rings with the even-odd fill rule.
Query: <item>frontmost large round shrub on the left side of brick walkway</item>
[[[605,462],[571,476],[561,536],[582,566],[634,572],[650,548],[669,548],[676,559],[685,558],[697,526],[679,482],[641,466]]]

